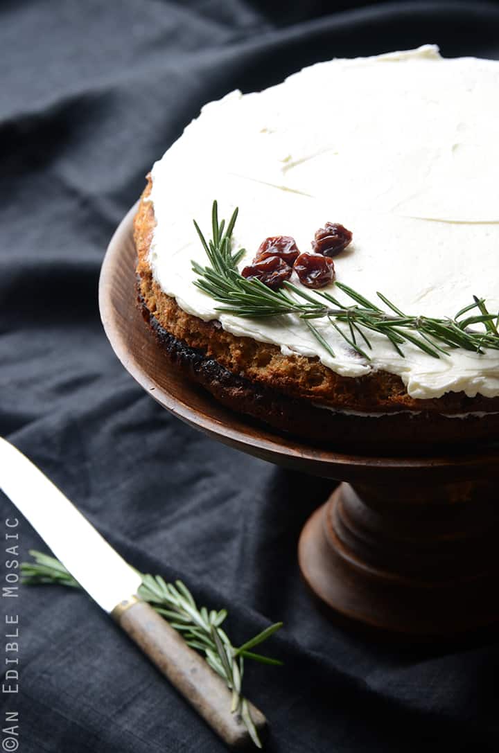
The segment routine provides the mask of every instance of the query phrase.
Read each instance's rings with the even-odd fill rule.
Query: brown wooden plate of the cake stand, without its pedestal
[[[476,453],[455,453],[429,457],[362,456],[338,453],[294,437],[283,437],[264,425],[234,413],[196,385],[176,379],[175,367],[164,358],[158,364],[145,358],[151,349],[161,349],[142,320],[136,304],[136,276],[131,207],[112,236],[99,278],[99,311],[106,336],[118,359],[131,376],[163,407],[224,444],[278,465],[321,477],[363,481],[376,480],[387,471],[404,477],[421,474],[470,477],[480,469],[497,464],[497,448]],[[202,406],[202,410],[195,405]]]

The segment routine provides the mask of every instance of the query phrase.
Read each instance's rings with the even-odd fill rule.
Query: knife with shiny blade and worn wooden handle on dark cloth
[[[243,749],[250,736],[231,691],[205,660],[185,644],[137,595],[142,578],[23,453],[0,437],[0,489],[63,562],[90,597],[112,615],[226,745]],[[90,555],[90,556],[89,556]],[[265,716],[253,704],[257,730]]]

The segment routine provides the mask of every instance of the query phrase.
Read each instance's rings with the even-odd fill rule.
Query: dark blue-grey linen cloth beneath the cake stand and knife
[[[182,577],[199,602],[228,608],[234,642],[284,620],[267,650],[285,666],[248,665],[246,677],[276,753],[497,751],[497,640],[397,646],[326,620],[295,550],[330,483],[210,441],[145,395],[103,334],[99,267],[145,172],[204,102],[332,56],[426,42],[448,56],[499,57],[499,7],[0,6],[0,434],[133,566]],[[13,508],[3,495],[0,508],[5,529]],[[18,530],[22,559],[44,549],[27,523]],[[11,612],[12,600],[2,607]],[[0,719],[19,712],[20,751],[224,749],[86,596],[22,587],[16,608],[20,692],[1,694]]]

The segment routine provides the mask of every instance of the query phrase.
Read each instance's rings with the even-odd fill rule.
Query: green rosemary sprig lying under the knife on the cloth
[[[31,550],[34,562],[22,562],[22,581],[28,585],[60,584],[80,588],[75,578],[61,562],[48,554]],[[142,575],[139,587],[140,598],[152,605],[170,626],[177,630],[187,645],[204,654],[207,663],[217,672],[232,691],[231,711],[239,713],[257,748],[262,748],[258,733],[249,712],[248,703],[242,694],[244,660],[252,659],[262,664],[280,665],[282,662],[271,657],[256,654],[253,649],[283,626],[282,622],[268,626],[262,633],[235,648],[222,630],[227,611],[210,611],[198,608],[191,592],[182,583],[166,583],[161,575]]]

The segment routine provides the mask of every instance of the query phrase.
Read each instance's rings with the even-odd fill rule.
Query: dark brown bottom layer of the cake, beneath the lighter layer
[[[142,285],[139,291],[141,288]],[[476,442],[497,436],[499,431],[499,413],[443,415],[435,410],[400,410],[369,414],[332,408],[321,410],[308,400],[292,398],[273,386],[229,371],[216,358],[207,357],[202,350],[189,347],[185,340],[167,331],[151,315],[140,292],[139,302],[159,345],[185,377],[203,386],[225,407],[286,434],[326,444],[341,452],[424,455],[434,453],[436,448],[443,452],[446,447],[457,444],[474,446]]]

